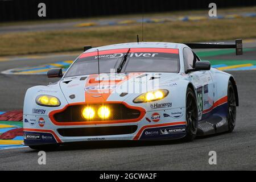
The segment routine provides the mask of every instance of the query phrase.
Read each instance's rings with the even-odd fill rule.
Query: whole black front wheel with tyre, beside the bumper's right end
[[[187,135],[185,141],[192,141],[196,137],[198,127],[198,111],[195,93],[191,88],[187,89],[186,94],[186,121]]]

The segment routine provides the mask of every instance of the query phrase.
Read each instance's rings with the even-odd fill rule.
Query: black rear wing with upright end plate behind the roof
[[[243,54],[242,39],[229,42],[202,42],[202,43],[183,43],[192,49],[229,49],[235,48],[236,55]]]

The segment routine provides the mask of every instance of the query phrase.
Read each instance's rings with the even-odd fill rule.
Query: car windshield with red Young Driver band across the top
[[[100,73],[117,70],[128,49],[99,52]],[[179,50],[167,48],[131,48],[121,72],[179,72]],[[98,73],[97,52],[82,54],[65,77]]]

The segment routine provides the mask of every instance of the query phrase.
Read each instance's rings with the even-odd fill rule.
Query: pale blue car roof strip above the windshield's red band
[[[185,47],[184,44],[180,43],[168,43],[168,42],[131,42],[131,43],[121,43],[121,44],[112,44],[108,46],[94,47],[88,49],[87,52],[97,51],[105,51],[110,49],[121,49],[121,48],[172,48],[172,49],[180,49]]]

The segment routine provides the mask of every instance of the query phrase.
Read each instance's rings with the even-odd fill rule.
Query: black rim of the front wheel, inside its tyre
[[[191,93],[187,94],[187,110],[186,110],[186,119],[188,130],[191,131],[192,134],[196,134],[197,132],[197,105],[195,97]]]

